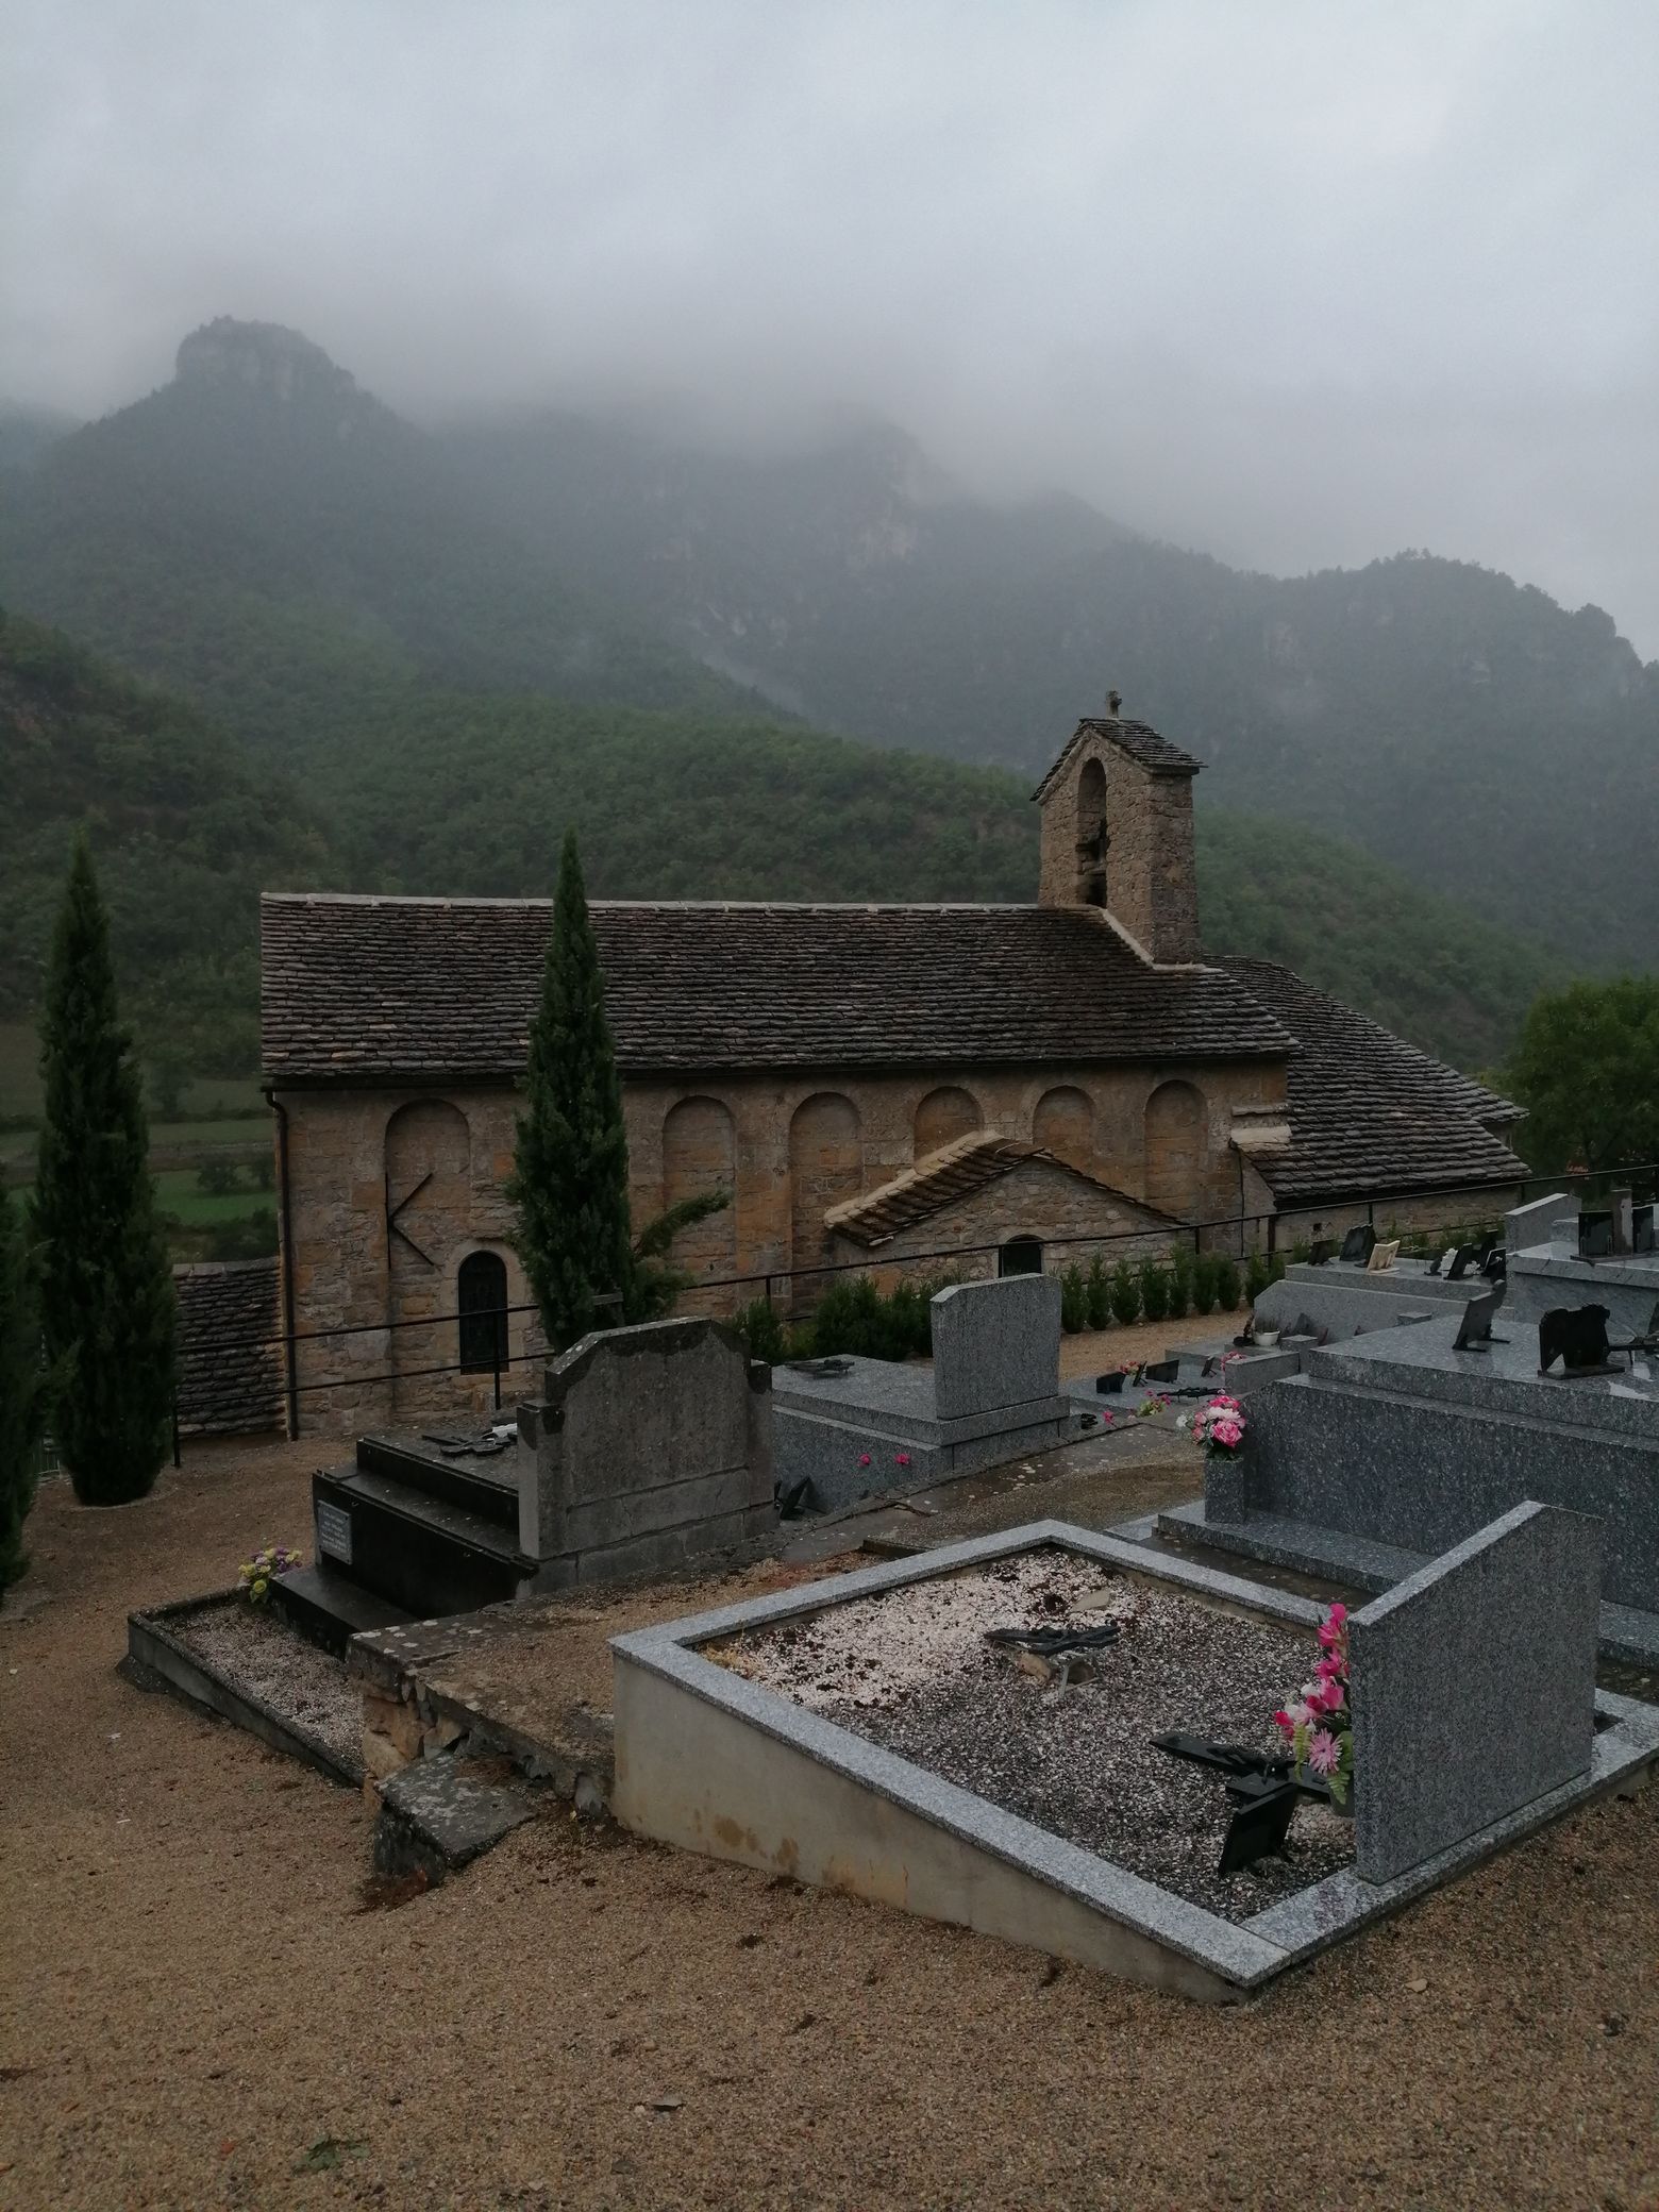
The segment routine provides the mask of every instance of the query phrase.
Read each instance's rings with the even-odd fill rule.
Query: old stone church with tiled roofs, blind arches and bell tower
[[[1197,768],[1079,721],[1029,907],[593,902],[635,1223],[730,1192],[675,1248],[703,1303],[1513,1199],[1515,1106],[1283,967],[1206,960]],[[526,1303],[502,1186],[546,927],[546,900],[263,900],[290,1422],[484,1405],[498,1354],[535,1349],[498,1314]]]

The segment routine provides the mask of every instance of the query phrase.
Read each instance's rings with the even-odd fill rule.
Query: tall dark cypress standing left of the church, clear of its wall
[[[33,1228],[53,1431],[82,1504],[113,1506],[144,1498],[166,1453],[175,1307],[144,1084],[84,836],[51,940],[40,1073]]]

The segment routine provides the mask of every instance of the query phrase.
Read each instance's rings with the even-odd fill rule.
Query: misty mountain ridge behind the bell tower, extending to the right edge
[[[1659,666],[1599,608],[1402,553],[1270,577],[1075,500],[969,498],[891,429],[690,451],[549,414],[449,434],[493,511],[825,728],[1037,776],[1106,688],[1301,818],[1582,964],[1659,938]]]

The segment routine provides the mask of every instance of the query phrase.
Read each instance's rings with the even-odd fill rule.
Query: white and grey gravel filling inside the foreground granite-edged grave
[[[1117,1641],[1060,1694],[984,1641],[989,1628],[1110,1619]],[[1281,1750],[1272,1714],[1314,1670],[1312,1632],[1057,1546],[832,1604],[703,1657],[1225,1920],[1354,1858],[1352,1823],[1305,1798],[1283,1856],[1217,1874],[1234,1812],[1223,1778],[1152,1745],[1183,1730]]]

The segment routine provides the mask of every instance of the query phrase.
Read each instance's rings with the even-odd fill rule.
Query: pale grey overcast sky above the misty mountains
[[[1652,0],[0,0],[0,394],[215,314],[394,405],[849,403],[1279,571],[1659,655]]]

